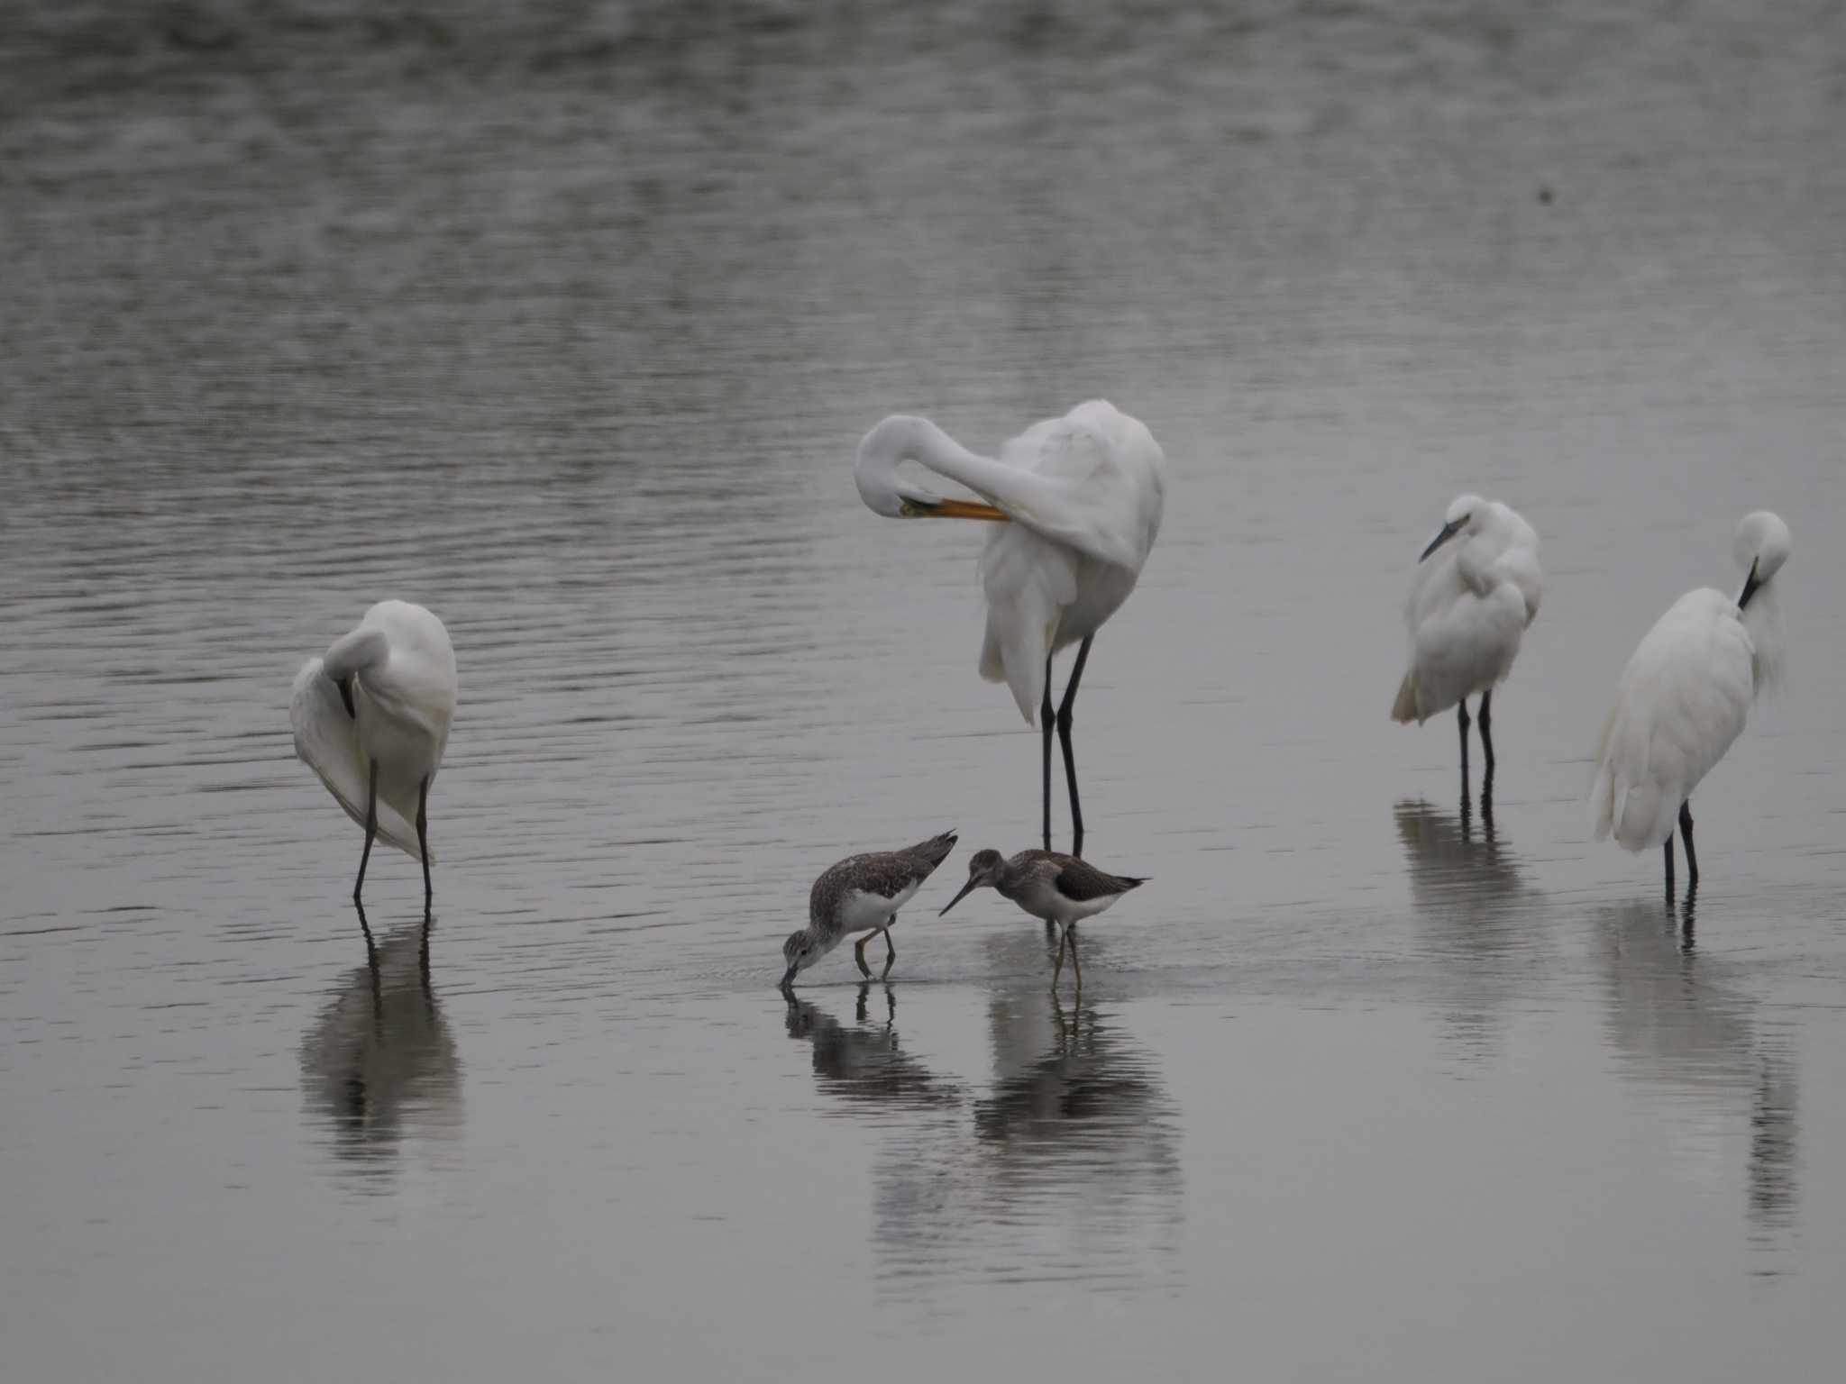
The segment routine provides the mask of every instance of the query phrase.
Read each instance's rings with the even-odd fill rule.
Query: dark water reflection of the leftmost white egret
[[[301,1041],[308,1115],[338,1166],[390,1190],[406,1139],[462,1131],[462,1063],[430,984],[428,928],[367,943]]]

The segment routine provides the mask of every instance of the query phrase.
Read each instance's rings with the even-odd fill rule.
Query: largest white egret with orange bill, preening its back
[[[945,500],[897,476],[917,461],[986,500]],[[1076,685],[1102,624],[1135,589],[1159,533],[1167,458],[1141,423],[1093,399],[1045,419],[1001,448],[977,456],[929,419],[892,415],[858,443],[855,467],[866,507],[886,519],[1012,520],[980,555],[988,631],[980,675],[1004,681],[1019,712],[1043,727],[1045,849],[1050,849],[1050,661],[1076,644],[1076,662],[1056,712],[1071,792],[1071,851],[1084,853],[1071,720]]]

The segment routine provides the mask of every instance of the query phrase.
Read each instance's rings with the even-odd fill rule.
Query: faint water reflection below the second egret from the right
[[[1525,961],[1549,936],[1523,925],[1541,895],[1493,832],[1492,775],[1480,799],[1479,832],[1466,792],[1460,814],[1442,812],[1425,799],[1405,799],[1392,808],[1421,943],[1434,963],[1436,1002],[1469,1059],[1499,1050],[1499,1011],[1521,984]]]

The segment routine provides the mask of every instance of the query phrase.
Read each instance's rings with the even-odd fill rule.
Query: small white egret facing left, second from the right
[[[1436,537],[1418,557],[1403,611],[1410,627],[1410,668],[1397,685],[1390,716],[1421,725],[1460,707],[1462,793],[1468,792],[1468,698],[1480,694],[1486,793],[1493,786],[1493,688],[1512,672],[1543,589],[1538,533],[1510,506],[1479,495],[1455,496]]]

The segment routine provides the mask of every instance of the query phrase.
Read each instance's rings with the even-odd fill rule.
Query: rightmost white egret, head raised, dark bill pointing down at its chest
[[[1772,581],[1789,561],[1789,526],[1767,509],[1737,524],[1743,591],[1689,591],[1636,648],[1602,725],[1597,840],[1612,832],[1630,851],[1665,845],[1672,893],[1672,823],[1685,840],[1685,869],[1698,884],[1691,797],[1698,781],[1743,733],[1756,694],[1781,672]]]

